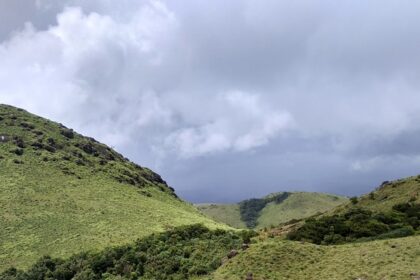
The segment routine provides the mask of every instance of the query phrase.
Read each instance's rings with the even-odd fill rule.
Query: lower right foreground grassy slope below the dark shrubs
[[[398,279],[420,273],[420,236],[320,246],[272,238],[248,250],[203,279]]]

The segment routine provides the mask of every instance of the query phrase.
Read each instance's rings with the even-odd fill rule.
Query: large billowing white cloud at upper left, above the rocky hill
[[[125,22],[69,7],[47,30],[27,23],[0,46],[1,101],[113,145],[130,139],[136,126],[167,123],[170,112],[161,108],[152,76],[167,66],[162,45],[176,20],[159,2],[136,8]]]

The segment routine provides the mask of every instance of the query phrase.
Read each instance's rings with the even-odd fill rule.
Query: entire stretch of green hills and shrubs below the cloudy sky
[[[0,280],[417,280],[419,193],[413,176],[350,200],[199,205],[206,216],[95,139],[0,105]]]

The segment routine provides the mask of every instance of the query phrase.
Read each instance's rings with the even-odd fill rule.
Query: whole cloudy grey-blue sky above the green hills
[[[184,199],[360,195],[420,173],[409,0],[0,0],[0,103]]]

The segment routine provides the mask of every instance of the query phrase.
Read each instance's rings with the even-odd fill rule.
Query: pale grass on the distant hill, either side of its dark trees
[[[278,193],[280,194],[280,193]],[[270,198],[277,194],[271,194]],[[263,199],[265,199],[263,198]],[[269,202],[259,212],[256,229],[276,226],[292,219],[302,219],[325,212],[348,201],[347,198],[324,193],[292,192],[281,203]],[[236,228],[246,228],[239,204],[198,204],[196,207],[212,219]]]

